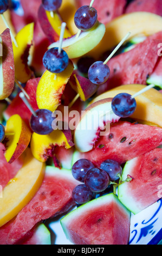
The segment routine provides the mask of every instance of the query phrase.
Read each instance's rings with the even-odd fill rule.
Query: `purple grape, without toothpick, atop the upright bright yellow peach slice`
[[[68,54],[64,50],[61,50],[61,53],[59,53],[58,50],[58,47],[51,48],[43,56],[44,67],[56,74],[65,70],[69,63]]]

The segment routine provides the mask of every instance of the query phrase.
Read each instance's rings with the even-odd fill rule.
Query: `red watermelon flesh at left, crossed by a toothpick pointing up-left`
[[[30,97],[30,104],[33,107],[34,111],[38,109],[37,102],[36,102],[36,89],[40,78],[33,78],[30,79],[26,86],[25,91],[28,93]],[[14,100],[10,103],[7,109],[4,111],[4,117],[6,119],[10,118],[11,115],[18,114],[21,118],[25,121],[25,123],[30,127],[29,120],[31,117],[31,112],[29,108],[24,104],[22,99],[17,95]]]

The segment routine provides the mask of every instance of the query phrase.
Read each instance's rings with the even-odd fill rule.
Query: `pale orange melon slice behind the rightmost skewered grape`
[[[92,102],[90,102],[90,104],[102,99],[107,99],[107,97],[114,97],[119,93],[134,95],[145,87],[146,86],[142,84],[126,84],[119,86],[96,97]],[[140,119],[162,127],[162,94],[158,92],[158,90],[152,88],[135,97],[135,100],[137,101],[137,108],[131,117],[135,120]]]

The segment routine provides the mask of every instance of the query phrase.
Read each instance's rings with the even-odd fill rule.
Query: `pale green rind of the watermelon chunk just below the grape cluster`
[[[73,230],[70,230],[70,227],[69,227],[70,222],[73,222],[73,220],[74,221],[78,220],[80,222],[80,216],[85,216],[86,211],[94,210],[95,212],[95,209],[98,207],[104,210],[104,205],[108,205],[109,203],[112,203],[112,202],[117,203],[118,207],[125,212],[125,214],[127,215],[127,218],[128,219],[130,218],[131,212],[119,201],[118,197],[114,193],[109,193],[109,194],[106,194],[105,196],[93,199],[90,202],[79,206],[77,209],[69,212],[69,214],[67,214],[60,220],[62,229],[67,239],[74,242],[72,237],[70,236],[70,231],[73,232]]]

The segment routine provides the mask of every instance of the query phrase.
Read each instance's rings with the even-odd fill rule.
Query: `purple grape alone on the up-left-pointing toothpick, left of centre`
[[[31,129],[40,135],[48,135],[49,133],[53,132],[54,130],[51,124],[55,118],[52,117],[52,112],[48,109],[38,109],[36,114],[36,117],[31,115]]]

